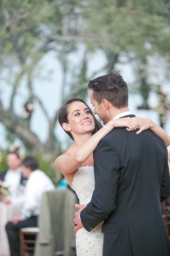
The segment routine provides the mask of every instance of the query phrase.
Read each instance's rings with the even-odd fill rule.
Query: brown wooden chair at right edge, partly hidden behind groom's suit
[[[170,196],[166,201],[162,202],[162,210],[166,231],[170,242]]]

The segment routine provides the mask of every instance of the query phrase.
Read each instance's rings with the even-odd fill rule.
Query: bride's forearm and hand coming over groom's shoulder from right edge
[[[170,145],[170,137],[165,132],[164,129],[162,129],[159,125],[155,124],[152,120],[136,117],[140,124],[140,130],[136,132],[136,134],[140,134],[144,130],[150,129],[152,132],[154,132],[157,136],[159,136],[165,143],[166,146]]]

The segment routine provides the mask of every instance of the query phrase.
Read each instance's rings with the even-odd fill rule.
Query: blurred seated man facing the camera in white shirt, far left
[[[22,202],[23,200],[22,193],[24,193],[27,179],[22,175],[20,163],[21,161],[17,152],[9,153],[7,155],[9,169],[0,174],[0,180],[4,181],[4,185],[10,193],[10,195],[3,200],[6,204],[20,202],[20,200]]]

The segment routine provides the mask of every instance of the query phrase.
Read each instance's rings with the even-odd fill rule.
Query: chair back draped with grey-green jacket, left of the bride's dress
[[[72,222],[76,212],[75,193],[69,189],[47,191],[42,196],[35,256],[63,253],[76,256],[76,235]]]

